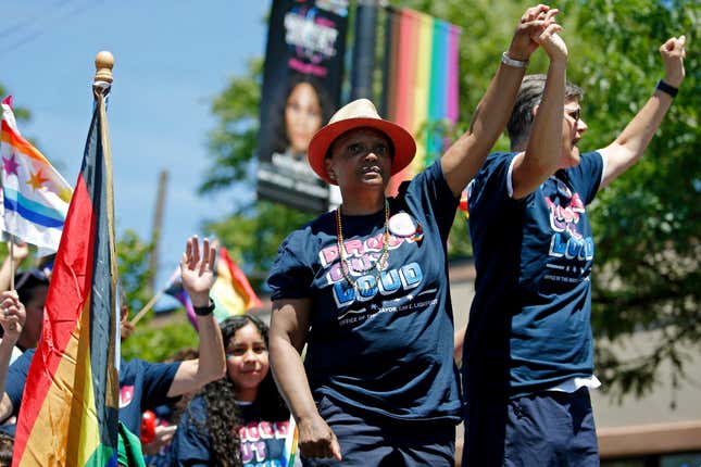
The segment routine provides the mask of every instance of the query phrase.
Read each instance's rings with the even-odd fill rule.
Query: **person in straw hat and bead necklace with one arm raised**
[[[529,55],[561,29],[556,13],[526,11],[470,130],[396,198],[389,179],[416,146],[371,101],[350,102],[313,137],[310,165],[342,204],[280,244],[267,281],[272,368],[305,465],[453,465],[462,403],[448,234]]]

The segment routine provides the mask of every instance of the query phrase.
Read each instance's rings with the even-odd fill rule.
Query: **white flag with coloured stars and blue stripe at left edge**
[[[37,245],[41,252],[59,249],[73,191],[61,174],[17,129],[12,96],[2,101],[3,230]]]

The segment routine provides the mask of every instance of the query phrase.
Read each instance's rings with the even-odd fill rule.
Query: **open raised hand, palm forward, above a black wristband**
[[[197,236],[187,239],[185,253],[180,260],[183,288],[190,295],[193,306],[210,304],[210,289],[214,283],[214,260],[216,250],[210,245],[210,240],[202,240],[202,254]]]

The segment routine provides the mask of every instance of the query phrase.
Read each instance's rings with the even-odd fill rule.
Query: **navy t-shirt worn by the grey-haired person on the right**
[[[592,375],[593,240],[585,206],[603,173],[601,154],[585,153],[514,200],[515,155],[490,154],[470,189],[477,279],[463,349],[467,391],[511,396]]]

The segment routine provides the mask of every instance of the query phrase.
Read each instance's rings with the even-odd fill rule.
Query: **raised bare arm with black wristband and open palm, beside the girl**
[[[210,290],[214,283],[214,258],[216,250],[210,241],[202,241],[202,255],[197,236],[187,240],[185,253],[180,260],[183,288],[190,295],[192,306],[198,313],[197,326],[200,338],[198,359],[183,362],[175,374],[167,395],[173,397],[186,392],[197,391],[208,382],[217,380],[226,371],[226,357],[222,331],[214,319],[212,310],[206,313],[210,301]],[[202,310],[203,313],[200,313]]]

